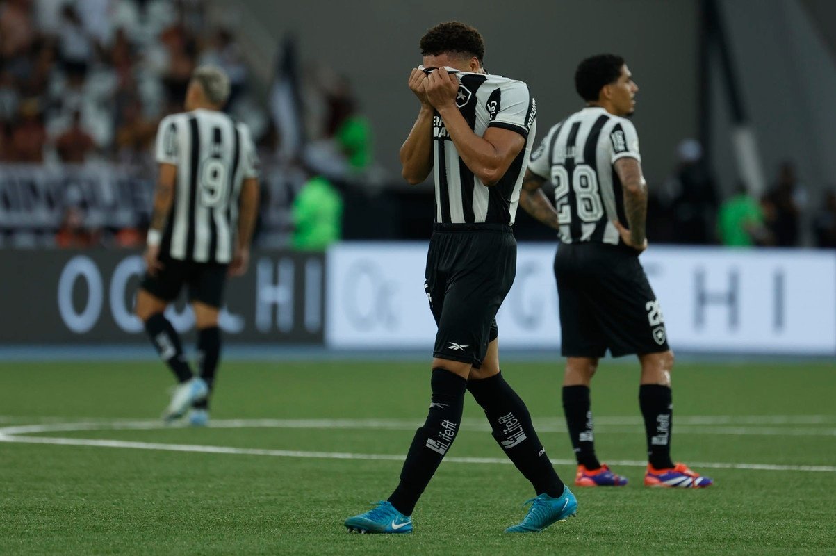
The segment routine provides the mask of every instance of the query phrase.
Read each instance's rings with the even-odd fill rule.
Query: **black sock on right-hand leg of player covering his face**
[[[534,431],[528,407],[502,378],[502,372],[487,379],[469,380],[467,390],[485,411],[497,444],[534,491],[551,497],[563,494],[563,482]]]

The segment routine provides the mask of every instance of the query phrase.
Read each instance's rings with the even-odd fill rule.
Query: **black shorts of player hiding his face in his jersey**
[[[500,224],[436,224],[424,289],[438,332],[433,356],[482,365],[517,273],[517,241]]]

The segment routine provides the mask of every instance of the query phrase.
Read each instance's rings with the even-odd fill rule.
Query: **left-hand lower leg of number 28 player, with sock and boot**
[[[592,401],[589,385],[598,370],[597,357],[567,357],[563,371],[563,414],[578,472],[575,485],[578,487],[623,487],[627,479],[609,470],[595,455],[592,419]]]

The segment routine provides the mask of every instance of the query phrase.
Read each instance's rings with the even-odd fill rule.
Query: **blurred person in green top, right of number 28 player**
[[[723,201],[717,213],[717,234],[729,247],[769,245],[772,237],[766,227],[761,204],[743,183],[733,196]]]

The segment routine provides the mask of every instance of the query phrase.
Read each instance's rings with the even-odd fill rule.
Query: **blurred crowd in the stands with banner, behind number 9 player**
[[[306,99],[302,133],[319,145],[308,156],[313,167],[298,153],[282,156],[263,91],[252,87],[234,33],[210,22],[207,5],[0,1],[0,245],[143,242],[156,128],[183,110],[201,64],[226,70],[226,110],[257,141],[265,169],[262,243],[289,241],[291,202],[314,168],[339,179],[368,166],[368,125],[353,116],[348,82],[324,65],[305,68],[298,84]]]

